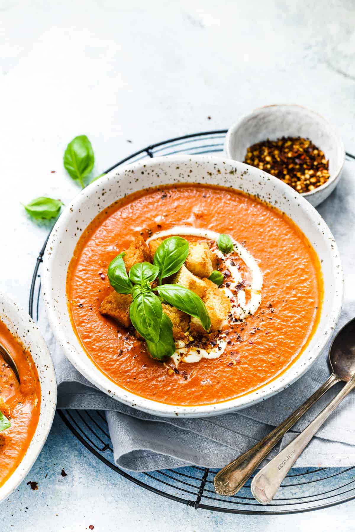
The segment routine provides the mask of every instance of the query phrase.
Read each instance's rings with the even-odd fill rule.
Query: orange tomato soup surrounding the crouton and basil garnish
[[[132,331],[99,308],[112,292],[110,261],[138,235],[147,240],[181,226],[230,235],[253,257],[262,289],[257,310],[225,327],[218,358],[174,368],[150,358]],[[71,260],[67,297],[82,347],[115,383],[151,400],[203,405],[247,394],[292,364],[316,329],[323,280],[315,251],[285,214],[230,188],[181,184],[142,190],[98,214]]]

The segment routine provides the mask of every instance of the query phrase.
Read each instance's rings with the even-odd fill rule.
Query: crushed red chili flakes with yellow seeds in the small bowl
[[[281,179],[299,193],[329,179],[329,161],[308,138],[282,137],[249,146],[244,162]]]

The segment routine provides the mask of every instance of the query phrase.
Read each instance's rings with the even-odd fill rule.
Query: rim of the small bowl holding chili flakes
[[[313,113],[315,115],[317,115],[321,120],[323,120],[325,123],[328,124],[329,128],[332,129],[333,131],[333,135],[334,137],[337,139],[337,148],[339,149],[339,151],[342,151],[344,156],[342,158],[342,162],[341,164],[339,165],[339,167],[336,169],[336,171],[332,172],[332,175],[329,177],[328,181],[325,182],[324,185],[321,185],[320,187],[317,187],[315,190],[310,190],[310,192],[302,192],[300,195],[305,197],[305,198],[310,198],[310,197],[314,197],[318,194],[318,192],[320,190],[325,190],[326,188],[329,187],[329,185],[332,185],[332,183],[336,180],[337,177],[339,177],[339,174],[342,172],[343,170],[343,167],[344,167],[344,163],[345,163],[345,147],[344,147],[344,143],[343,143],[343,140],[341,138],[341,136],[339,135],[339,132],[337,131],[337,129],[333,126],[333,124],[331,124],[330,122],[328,122],[328,120],[326,120],[323,115],[321,115],[320,113],[317,113],[316,111],[313,111],[312,109],[309,109],[309,107],[305,107],[304,105],[298,105],[298,104],[293,104],[293,103],[280,103],[280,104],[271,104],[271,105],[263,105],[262,107],[257,107],[256,109],[254,109],[251,113],[249,114],[245,114],[244,117],[242,117],[240,120],[238,120],[237,122],[235,122],[232,126],[230,126],[230,128],[228,129],[227,131],[227,134],[226,134],[226,138],[225,138],[225,152],[226,152],[226,155],[228,157],[228,159],[232,159],[232,154],[230,153],[230,143],[231,143],[231,139],[235,133],[235,131],[240,128],[241,124],[249,119],[249,118],[252,118],[254,115],[257,115],[260,113],[260,111],[262,110],[267,110],[267,109],[270,109],[271,107],[288,107],[289,109],[291,107],[297,107],[298,109],[302,109],[304,111],[307,111],[308,113]]]

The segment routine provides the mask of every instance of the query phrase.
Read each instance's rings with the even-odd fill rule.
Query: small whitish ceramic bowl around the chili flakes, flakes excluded
[[[342,139],[320,114],[301,105],[267,105],[255,109],[228,129],[225,152],[228,159],[244,161],[246,148],[261,140],[279,137],[309,138],[329,160],[328,181],[301,194],[313,207],[323,202],[339,182],[345,161]]]

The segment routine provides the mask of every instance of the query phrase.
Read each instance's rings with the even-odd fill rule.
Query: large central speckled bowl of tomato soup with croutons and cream
[[[233,244],[221,251],[225,235]],[[215,332],[196,340],[195,318],[162,298],[176,352],[157,360],[108,268],[122,253],[127,272],[155,264],[171,236],[189,255],[168,282],[188,279],[196,294],[204,285]],[[230,412],[292,384],[325,346],[343,295],[337,246],[306,200],[261,170],[195,155],[130,164],[83,190],[52,231],[44,272],[49,322],[68,359],[111,397],[166,416]]]

